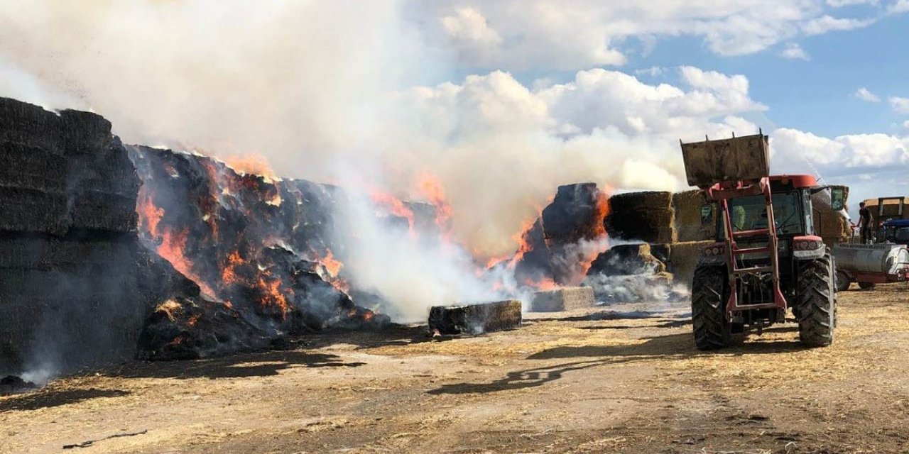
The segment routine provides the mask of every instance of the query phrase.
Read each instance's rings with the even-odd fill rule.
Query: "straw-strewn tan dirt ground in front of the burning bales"
[[[815,350],[787,323],[701,353],[686,305],[655,307],[528,314],[448,341],[402,327],[131,362],[0,398],[0,451],[909,451],[905,285],[841,293],[834,346]]]

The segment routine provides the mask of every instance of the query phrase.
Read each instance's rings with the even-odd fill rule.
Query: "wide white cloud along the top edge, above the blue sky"
[[[624,64],[625,54],[636,47],[643,46],[646,54],[659,45],[660,39],[678,35],[704,39],[714,54],[738,55],[760,52],[800,35],[873,24],[874,18],[826,14],[832,7],[858,1],[729,0],[715,5],[687,0],[410,0],[405,11],[428,40],[450,45],[460,61],[470,67],[571,70]],[[471,11],[471,19],[462,17],[464,8]],[[444,26],[436,28],[438,21],[427,17],[444,18]],[[472,25],[458,25],[453,30],[448,22]],[[476,39],[465,40],[464,28]]]

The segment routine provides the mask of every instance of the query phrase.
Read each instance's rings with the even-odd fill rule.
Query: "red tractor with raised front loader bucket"
[[[770,176],[768,150],[763,133],[682,143],[688,183],[719,212],[717,242],[704,248],[692,282],[699,350],[784,322],[789,308],[802,343],[834,341],[834,258],[814,232],[811,196],[830,191],[838,212],[842,189],[818,186],[809,175]]]

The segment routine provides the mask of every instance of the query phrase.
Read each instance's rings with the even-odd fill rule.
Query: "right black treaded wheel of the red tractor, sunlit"
[[[799,339],[811,347],[824,347],[834,341],[836,291],[830,254],[799,263],[796,305]]]

